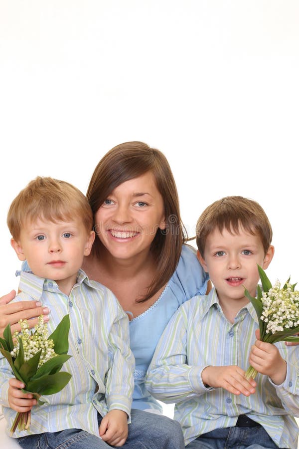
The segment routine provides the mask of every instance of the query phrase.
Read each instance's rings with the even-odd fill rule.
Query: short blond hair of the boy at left
[[[83,193],[65,181],[38,176],[11,203],[7,225],[12,237],[18,240],[21,228],[27,222],[41,219],[55,223],[71,221],[78,216],[90,232],[93,215]]]

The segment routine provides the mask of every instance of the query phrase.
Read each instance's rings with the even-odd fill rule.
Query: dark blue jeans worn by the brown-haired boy
[[[188,449],[277,449],[278,446],[261,427],[215,429],[189,443]]]

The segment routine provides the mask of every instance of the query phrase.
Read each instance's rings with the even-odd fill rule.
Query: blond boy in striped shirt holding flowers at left
[[[72,355],[63,366],[72,375],[70,382],[59,393],[43,396],[43,405],[22,392],[24,384],[0,356],[0,405],[7,428],[16,412],[31,410],[30,428],[13,435],[23,448],[122,446],[135,362],[126,313],[110,290],[80,269],[95,238],[88,201],[69,183],[38,177],[12,202],[7,224],[12,247],[31,270],[20,273],[15,300],[34,299],[50,308],[49,333],[69,314]]]

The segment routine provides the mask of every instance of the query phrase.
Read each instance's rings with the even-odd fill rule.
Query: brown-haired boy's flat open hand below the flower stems
[[[207,366],[201,373],[205,385],[224,388],[234,395],[250,396],[255,393],[256,382],[245,379],[245,371],[238,366]]]

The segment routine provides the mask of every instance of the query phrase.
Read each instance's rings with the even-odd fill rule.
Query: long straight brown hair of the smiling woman
[[[150,246],[156,263],[156,277],[149,285],[143,302],[168,282],[178,263],[186,231],[181,222],[175,182],[168,161],[159,150],[143,142],[125,142],[112,148],[101,159],[91,177],[86,197],[93,215],[111,192],[126,181],[151,172],[162,196],[166,228],[157,229]],[[93,252],[100,254],[100,239],[96,238]]]

